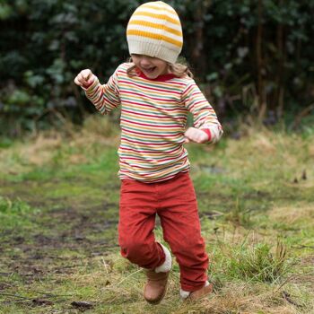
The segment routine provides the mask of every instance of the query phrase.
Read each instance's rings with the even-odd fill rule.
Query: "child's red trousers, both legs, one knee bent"
[[[188,172],[158,183],[122,179],[118,222],[121,255],[149,269],[165,260],[153,234],[156,214],[161,219],[163,239],[177,258],[181,288],[193,292],[203,287],[208,257]]]

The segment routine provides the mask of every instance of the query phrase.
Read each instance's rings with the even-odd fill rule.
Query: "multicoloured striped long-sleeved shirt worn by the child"
[[[119,65],[109,82],[95,80],[86,96],[102,114],[121,106],[120,179],[158,182],[189,170],[183,146],[188,112],[194,126],[210,131],[210,142],[222,135],[214,109],[189,77],[165,74],[129,77],[129,63]]]

